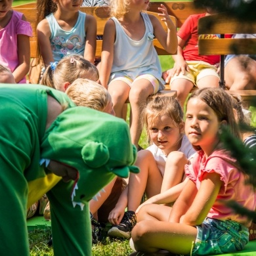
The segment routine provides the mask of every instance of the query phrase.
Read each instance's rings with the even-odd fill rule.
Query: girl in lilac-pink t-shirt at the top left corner
[[[26,83],[32,27],[22,13],[11,10],[12,1],[0,1],[0,64],[11,70],[16,83]]]

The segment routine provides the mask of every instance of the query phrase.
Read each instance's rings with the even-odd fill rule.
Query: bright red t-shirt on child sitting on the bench
[[[214,65],[220,62],[219,55],[198,54],[198,20],[204,16],[205,13],[190,15],[181,26],[181,29],[177,32],[177,35],[186,41],[185,47],[183,49],[184,60],[202,60],[211,65]],[[219,38],[217,35],[207,36]]]

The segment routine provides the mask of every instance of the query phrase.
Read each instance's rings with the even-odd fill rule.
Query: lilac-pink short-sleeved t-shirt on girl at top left
[[[19,65],[17,35],[32,37],[30,22],[22,20],[22,15],[20,12],[12,11],[11,20],[0,30],[0,64],[10,68],[12,72]],[[26,83],[26,77],[19,83]]]

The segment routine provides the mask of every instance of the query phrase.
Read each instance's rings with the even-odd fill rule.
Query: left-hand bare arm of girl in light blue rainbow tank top
[[[37,25],[37,41],[45,67],[49,66],[51,62],[54,62],[50,37],[51,30],[48,21],[46,19],[41,20]]]

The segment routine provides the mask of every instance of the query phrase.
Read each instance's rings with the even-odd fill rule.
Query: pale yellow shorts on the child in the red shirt
[[[219,75],[217,74],[217,67],[207,62],[189,60],[186,61],[186,63],[190,68],[190,72],[186,71],[184,75],[182,75],[181,73],[179,75],[174,75],[171,78],[170,84],[173,83],[173,81],[175,81],[176,79],[183,78],[191,81],[194,84],[194,86],[197,86],[196,83],[198,82],[198,80],[207,75],[215,75],[219,78]]]

